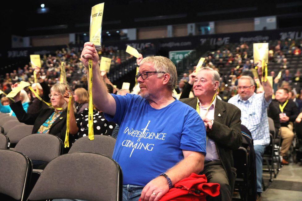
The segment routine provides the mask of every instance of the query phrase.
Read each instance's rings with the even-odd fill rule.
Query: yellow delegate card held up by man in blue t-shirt
[[[102,21],[104,3],[99,3],[91,8],[89,41],[93,42],[95,49],[102,49]]]

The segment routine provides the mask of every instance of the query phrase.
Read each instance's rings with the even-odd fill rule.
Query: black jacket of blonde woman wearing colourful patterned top
[[[44,108],[36,113],[28,114],[24,111],[21,101],[12,103],[11,109],[15,112],[18,120],[27,125],[33,125],[32,133],[37,133],[40,126],[49,118],[49,116],[54,112],[53,108]],[[49,133],[58,136],[61,140],[65,141],[66,134],[66,119],[67,110],[63,111],[62,114],[55,120],[49,129]],[[72,142],[72,135],[69,135],[69,142]],[[66,150],[64,150],[65,152]]]

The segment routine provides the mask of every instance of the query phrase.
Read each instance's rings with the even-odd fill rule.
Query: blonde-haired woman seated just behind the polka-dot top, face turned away
[[[77,88],[73,97],[76,102],[75,106],[77,114],[80,114],[85,108],[88,108],[89,94],[87,90],[84,88]]]

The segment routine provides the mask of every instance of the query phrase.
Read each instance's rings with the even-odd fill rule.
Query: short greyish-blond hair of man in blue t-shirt
[[[163,56],[149,56],[145,57],[140,62],[140,66],[144,63],[152,63],[157,72],[169,73],[170,80],[168,82],[168,86],[170,87],[170,90],[173,91],[177,85],[177,72],[174,63],[172,63],[170,59]],[[162,77],[163,75],[164,73],[157,73],[157,77]]]

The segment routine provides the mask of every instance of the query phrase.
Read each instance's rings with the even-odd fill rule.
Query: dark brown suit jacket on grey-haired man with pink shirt
[[[184,98],[180,99],[180,101],[196,110],[197,98]],[[235,183],[235,168],[233,168],[234,160],[232,150],[238,149],[242,143],[240,117],[241,111],[238,107],[216,98],[214,123],[212,130],[207,132],[207,136],[215,142],[218,156],[226,171],[232,189],[234,188]]]

